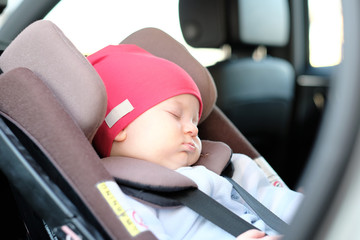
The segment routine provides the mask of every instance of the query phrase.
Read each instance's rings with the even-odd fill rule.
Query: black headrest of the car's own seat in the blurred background
[[[282,47],[290,34],[287,0],[180,0],[179,18],[193,47]]]

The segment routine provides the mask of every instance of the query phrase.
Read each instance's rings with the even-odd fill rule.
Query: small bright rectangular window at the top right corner
[[[341,62],[343,17],[341,0],[308,0],[309,61],[313,67]]]

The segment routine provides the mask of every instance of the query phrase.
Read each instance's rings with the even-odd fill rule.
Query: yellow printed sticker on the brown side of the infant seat
[[[126,213],[126,210],[120,205],[115,195],[110,191],[106,182],[97,184],[97,188],[99,189],[100,193],[103,195],[105,200],[108,202],[108,204],[110,205],[116,216],[119,218],[121,223],[124,225],[126,230],[130,233],[130,235],[132,237],[138,235],[141,231],[137,228],[136,224]]]

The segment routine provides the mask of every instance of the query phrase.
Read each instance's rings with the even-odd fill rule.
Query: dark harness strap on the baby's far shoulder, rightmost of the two
[[[278,233],[284,233],[288,224],[266,208],[256,198],[251,196],[244,188],[242,188],[237,182],[229,177],[225,177],[240,194],[244,201],[251,207],[251,209],[272,229]]]

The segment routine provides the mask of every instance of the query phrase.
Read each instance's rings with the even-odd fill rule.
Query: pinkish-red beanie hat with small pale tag
[[[181,67],[156,57],[136,45],[110,45],[88,56],[107,92],[105,121],[95,134],[93,145],[100,155],[110,155],[116,135],[139,115],[160,102],[192,94],[200,104],[200,91]]]

